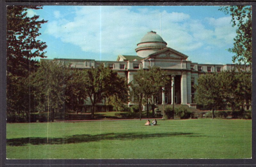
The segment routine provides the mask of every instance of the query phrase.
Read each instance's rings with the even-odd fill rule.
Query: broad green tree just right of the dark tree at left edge
[[[71,77],[70,68],[56,61],[41,61],[40,67],[30,75],[31,87],[39,112],[52,112],[52,122],[56,112],[65,111],[66,87]],[[48,105],[49,102],[49,105]]]

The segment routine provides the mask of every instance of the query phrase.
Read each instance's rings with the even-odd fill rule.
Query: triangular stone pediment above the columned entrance
[[[164,48],[160,51],[154,52],[150,55],[148,55],[148,57],[151,58],[164,58],[164,59],[187,59],[188,56],[178,52],[172,48]]]

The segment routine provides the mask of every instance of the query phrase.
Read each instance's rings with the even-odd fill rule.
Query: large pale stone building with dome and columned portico
[[[91,59],[54,59],[60,62],[71,63],[74,68],[97,68],[100,64],[117,71],[128,82],[133,80],[137,70],[157,66],[165,70],[172,78],[163,90],[159,91],[156,99],[158,104],[194,104],[193,85],[197,84],[198,77],[206,72],[220,72],[235,69],[234,64],[198,64],[188,60],[188,56],[166,46],[167,43],[156,32],[148,32],[137,44],[137,55],[118,55],[116,61],[96,61]],[[249,66],[246,66],[249,70]],[[172,98],[174,97],[174,98]],[[90,102],[87,101],[87,105]],[[100,104],[99,104],[100,105]],[[104,101],[102,103],[104,105]],[[133,102],[129,102],[133,105]]]

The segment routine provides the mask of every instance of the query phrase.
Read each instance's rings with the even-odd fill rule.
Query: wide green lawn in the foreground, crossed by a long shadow
[[[7,123],[8,159],[251,158],[252,120]]]

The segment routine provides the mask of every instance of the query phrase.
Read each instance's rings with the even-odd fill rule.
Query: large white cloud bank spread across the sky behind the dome
[[[108,54],[136,54],[136,44],[148,31],[162,33],[167,46],[180,52],[191,52],[204,45],[207,48],[225,47],[232,42],[235,31],[229,17],[193,20],[186,13],[160,12],[146,7],[132,11],[127,6],[78,6],[73,20],[61,19],[54,12],[55,21],[47,23],[46,32],[61,41],[79,46],[85,52]],[[205,47],[206,47],[205,46]]]

